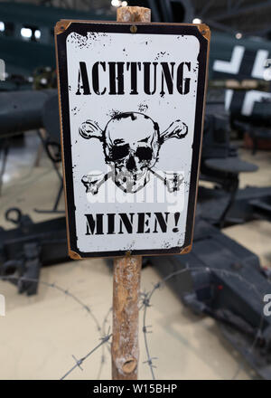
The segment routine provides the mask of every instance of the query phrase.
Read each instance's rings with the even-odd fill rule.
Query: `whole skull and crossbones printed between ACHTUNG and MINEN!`
[[[117,113],[106,128],[86,120],[79,127],[79,135],[85,139],[97,138],[103,145],[105,161],[111,166],[107,174],[83,175],[81,181],[87,193],[98,194],[100,185],[112,178],[123,192],[135,194],[149,182],[151,173],[164,181],[168,192],[178,191],[183,176],[157,170],[155,164],[166,140],[182,139],[187,133],[188,128],[181,120],[173,121],[160,133],[158,123],[140,112]]]

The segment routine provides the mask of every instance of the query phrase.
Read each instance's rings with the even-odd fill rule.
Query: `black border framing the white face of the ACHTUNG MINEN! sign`
[[[67,21],[63,20],[63,23]],[[60,23],[59,23],[60,24]],[[62,127],[62,155],[64,162],[65,189],[66,189],[66,215],[68,215],[68,240],[70,242],[70,251],[78,253],[81,258],[86,257],[117,257],[126,255],[126,251],[96,251],[82,252],[77,247],[76,223],[75,223],[75,203],[72,178],[72,161],[70,145],[70,105],[68,88],[68,70],[67,70],[67,51],[66,39],[70,33],[79,33],[86,35],[88,32],[94,33],[127,33],[130,32],[132,24],[119,23],[98,23],[90,22],[70,22],[68,28],[63,33],[56,35],[57,61],[59,68],[59,96],[61,99],[61,127]],[[192,169],[189,191],[189,202],[187,208],[185,240],[182,247],[173,247],[171,249],[158,250],[135,250],[130,251],[131,255],[158,255],[158,254],[180,254],[180,252],[192,244],[192,232],[194,223],[194,213],[197,194],[197,182],[199,174],[199,161],[201,158],[201,134],[202,118],[205,98],[206,67],[209,49],[209,41],[202,36],[197,25],[185,24],[136,24],[136,34],[179,34],[196,36],[200,42],[199,75],[195,115],[195,128],[192,144]]]

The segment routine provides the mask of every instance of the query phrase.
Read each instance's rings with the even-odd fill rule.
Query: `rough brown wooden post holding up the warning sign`
[[[151,22],[151,10],[144,7],[117,8],[117,22]],[[136,29],[131,29],[136,33]],[[112,379],[136,380],[138,368],[138,296],[142,257],[114,260]]]

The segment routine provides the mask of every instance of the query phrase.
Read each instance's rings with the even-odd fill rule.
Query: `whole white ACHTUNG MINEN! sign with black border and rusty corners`
[[[180,253],[192,243],[209,30],[130,28],[56,26],[74,258]]]

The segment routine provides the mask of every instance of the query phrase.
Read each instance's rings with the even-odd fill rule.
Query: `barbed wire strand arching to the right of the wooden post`
[[[210,273],[211,271],[215,271],[220,273],[221,276],[227,276],[227,277],[234,277],[234,278],[238,278],[238,280],[240,280],[241,282],[245,283],[248,286],[248,289],[252,289],[258,296],[258,298],[261,300],[262,296],[261,293],[258,291],[257,287],[249,282],[248,280],[246,280],[244,277],[242,277],[242,275],[235,273],[233,271],[229,271],[229,270],[220,270],[217,268],[209,268],[209,267],[189,267],[188,264],[185,264],[185,267],[182,270],[176,270],[170,274],[168,274],[167,276],[165,276],[162,280],[158,281],[157,283],[154,284],[154,288],[147,291],[147,292],[142,292],[140,295],[140,302],[139,302],[139,308],[143,309],[144,311],[144,315],[143,315],[143,333],[144,333],[144,341],[145,341],[145,353],[146,353],[146,361],[144,362],[144,364],[147,364],[150,368],[151,374],[152,374],[152,378],[153,380],[155,380],[155,374],[154,374],[154,368],[156,368],[156,366],[154,365],[153,361],[155,359],[158,359],[158,357],[156,356],[152,356],[150,354],[150,348],[149,348],[149,341],[147,338],[147,334],[152,333],[152,331],[150,330],[150,328],[152,327],[151,325],[147,325],[147,308],[152,307],[151,305],[151,299],[154,296],[154,292],[157,289],[163,288],[165,286],[165,283],[168,280],[171,280],[173,277],[176,277],[178,275],[181,275],[184,272],[187,271],[197,271],[197,270],[204,270],[208,273]],[[255,333],[255,337],[253,339],[253,342],[251,344],[251,346],[248,348],[248,352],[251,354],[253,353],[253,350],[255,349],[256,345],[257,345],[257,340],[259,338],[259,336],[261,336],[261,332],[262,332],[262,327],[264,324],[264,314],[262,312],[261,317],[260,317],[260,322],[259,322],[259,326],[257,327],[257,331]],[[239,364],[238,364],[238,369],[237,372],[233,375],[232,379],[235,379],[238,376],[238,373],[240,372],[241,368],[243,367],[245,363],[244,359],[241,359]]]

